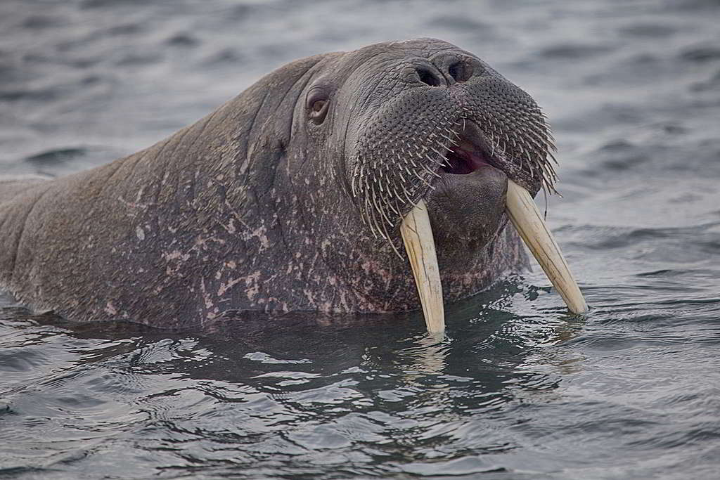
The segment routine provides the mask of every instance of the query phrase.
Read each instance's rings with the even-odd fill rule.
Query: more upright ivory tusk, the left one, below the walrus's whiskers
[[[418,204],[402,219],[400,235],[410,258],[410,266],[413,268],[428,332],[443,332],[445,330],[443,286],[440,283],[438,255],[435,251],[435,240],[425,201],[418,201]]]

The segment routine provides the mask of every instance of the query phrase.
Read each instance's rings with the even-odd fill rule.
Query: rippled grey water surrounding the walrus
[[[476,53],[554,127],[548,222],[592,310],[537,267],[445,338],[418,313],[161,330],[2,296],[0,477],[720,478],[719,25],[716,0],[2,0],[0,173],[145,148],[295,58]]]

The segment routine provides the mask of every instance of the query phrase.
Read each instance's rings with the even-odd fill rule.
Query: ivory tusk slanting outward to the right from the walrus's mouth
[[[526,189],[508,179],[508,215],[555,289],[575,314],[588,311],[580,287]]]

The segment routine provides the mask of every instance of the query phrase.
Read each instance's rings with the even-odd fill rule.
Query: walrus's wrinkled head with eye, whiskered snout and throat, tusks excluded
[[[400,225],[420,201],[446,300],[524,262],[505,228],[508,179],[532,195],[553,191],[552,135],[531,96],[487,63],[440,40],[371,45],[329,59],[300,100],[311,150],[323,152],[315,176],[342,186],[335,223],[363,273],[379,279],[348,279],[356,291],[389,299],[385,309],[412,302]]]

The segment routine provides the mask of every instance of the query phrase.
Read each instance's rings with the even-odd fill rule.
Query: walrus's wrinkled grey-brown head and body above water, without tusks
[[[0,183],[0,284],[71,320],[168,327],[419,309],[398,227],[425,199],[454,302],[526,267],[507,178],[552,188],[549,138],[528,94],[441,40],[297,60],[126,158]]]

